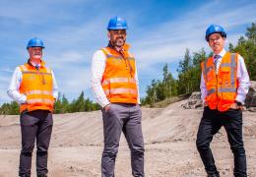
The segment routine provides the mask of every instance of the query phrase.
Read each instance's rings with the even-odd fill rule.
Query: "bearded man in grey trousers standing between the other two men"
[[[102,107],[104,148],[101,176],[113,177],[121,133],[131,150],[132,175],[144,177],[144,140],[139,81],[134,56],[126,41],[125,20],[110,19],[108,45],[97,50],[92,60],[91,85]]]

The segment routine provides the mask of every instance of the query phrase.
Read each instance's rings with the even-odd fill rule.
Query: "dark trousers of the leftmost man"
[[[32,168],[32,150],[36,139],[36,172],[37,176],[46,174],[47,151],[52,131],[52,114],[46,110],[34,110],[22,113],[22,151],[20,156],[20,176],[30,176]]]

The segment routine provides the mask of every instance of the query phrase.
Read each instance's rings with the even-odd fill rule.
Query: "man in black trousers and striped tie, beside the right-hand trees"
[[[233,175],[247,176],[246,155],[242,140],[242,105],[250,87],[243,58],[224,50],[226,32],[223,27],[211,25],[205,35],[213,56],[202,62],[201,97],[204,113],[196,145],[209,177],[219,177],[210,144],[222,128],[234,156]]]

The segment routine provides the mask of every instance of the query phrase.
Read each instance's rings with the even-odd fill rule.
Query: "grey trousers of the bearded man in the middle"
[[[144,140],[142,135],[142,112],[136,104],[112,103],[103,115],[104,149],[101,159],[101,176],[113,177],[115,158],[121,133],[131,150],[132,175],[144,177]]]

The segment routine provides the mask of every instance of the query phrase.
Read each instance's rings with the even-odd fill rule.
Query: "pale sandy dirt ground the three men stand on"
[[[148,177],[206,176],[195,146],[202,109],[183,109],[186,100],[166,108],[143,108],[145,172]],[[0,117],[0,177],[18,176],[21,150],[19,116]],[[256,177],[256,113],[243,112],[248,175]],[[54,115],[49,148],[50,177],[100,176],[101,112]],[[221,176],[232,176],[233,158],[224,129],[211,145]],[[32,176],[35,176],[34,154]],[[130,177],[130,151],[122,136],[115,175]]]

